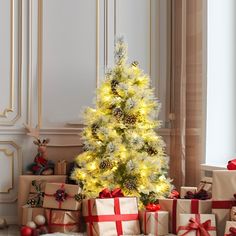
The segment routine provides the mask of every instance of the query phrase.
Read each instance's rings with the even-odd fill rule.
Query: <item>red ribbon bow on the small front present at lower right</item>
[[[191,231],[196,231],[196,236],[210,236],[208,231],[216,230],[216,227],[211,226],[211,220],[207,220],[204,223],[200,222],[200,215],[196,214],[195,219],[190,218],[188,226],[179,226],[178,232],[180,230],[186,230],[185,233],[180,236],[185,236]]]

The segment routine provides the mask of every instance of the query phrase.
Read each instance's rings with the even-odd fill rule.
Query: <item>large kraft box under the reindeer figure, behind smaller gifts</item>
[[[66,175],[21,175],[19,176],[19,186],[18,186],[18,198],[17,198],[17,208],[18,208],[18,223],[21,225],[22,218],[22,206],[27,203],[31,184],[33,180],[46,181],[47,183],[65,183]]]

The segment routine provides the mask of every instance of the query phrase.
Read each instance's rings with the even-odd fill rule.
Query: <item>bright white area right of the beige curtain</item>
[[[206,163],[236,155],[236,1],[208,0]]]

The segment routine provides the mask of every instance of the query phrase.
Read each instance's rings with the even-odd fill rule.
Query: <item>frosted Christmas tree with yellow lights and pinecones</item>
[[[96,109],[85,111],[84,152],[76,157],[71,178],[87,197],[119,187],[147,204],[166,197],[172,185],[165,145],[156,133],[160,104],[138,63],[127,64],[126,51],[118,39],[116,63],[97,91]]]

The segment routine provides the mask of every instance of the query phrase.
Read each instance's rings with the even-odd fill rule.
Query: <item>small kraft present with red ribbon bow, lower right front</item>
[[[179,236],[216,236],[213,214],[180,214]]]

